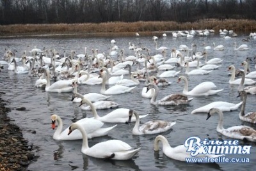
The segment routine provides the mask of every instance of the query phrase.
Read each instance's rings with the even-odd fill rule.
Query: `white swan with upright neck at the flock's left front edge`
[[[46,75],[47,84],[45,86],[45,91],[63,93],[63,92],[72,92],[72,80],[58,80],[50,85],[50,71],[45,68],[40,68],[40,70],[44,71]]]

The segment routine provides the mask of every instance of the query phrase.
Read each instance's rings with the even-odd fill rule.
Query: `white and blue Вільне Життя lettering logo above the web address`
[[[250,154],[252,145],[239,145],[239,140],[208,140],[199,137],[189,137],[184,146],[192,157],[198,154]]]

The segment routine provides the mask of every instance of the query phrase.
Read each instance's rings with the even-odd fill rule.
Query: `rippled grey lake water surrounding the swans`
[[[189,76],[189,89],[195,87],[203,81],[214,82],[218,89],[224,89],[221,93],[214,96],[194,98],[189,105],[180,107],[172,106],[154,106],[150,104],[150,99],[141,98],[141,89],[144,83],[138,85],[131,93],[114,95],[109,100],[116,101],[123,108],[132,108],[140,114],[149,114],[148,117],[141,119],[141,123],[161,119],[164,121],[176,121],[177,124],[173,129],[161,133],[167,138],[171,146],[184,144],[189,137],[211,138],[216,140],[228,138],[216,132],[218,124],[218,115],[214,115],[209,120],[205,120],[206,114],[191,114],[195,108],[207,105],[212,101],[227,101],[230,103],[239,103],[240,98],[237,96],[237,85],[228,84],[230,76],[228,76],[228,66],[234,64],[237,68],[241,68],[241,63],[246,57],[255,56],[256,40],[251,39],[246,42],[250,50],[237,51],[234,50],[234,41],[237,45],[244,43],[241,41],[248,34],[239,35],[231,40],[223,40],[218,33],[211,34],[208,37],[188,38],[173,38],[170,34],[167,38],[159,38],[158,45],[169,48],[179,48],[179,45],[185,44],[191,47],[191,43],[197,45],[197,51],[203,50],[203,43],[210,45],[223,44],[225,50],[214,51],[209,50],[208,59],[212,57],[220,57],[224,59],[221,67],[218,70],[212,71],[209,75]],[[37,48],[55,48],[63,54],[64,50],[70,54],[70,50],[75,50],[77,54],[84,53],[84,47],[87,47],[88,54],[91,54],[92,48],[99,49],[99,52],[108,54],[110,41],[116,40],[118,47],[124,48],[125,55],[134,55],[134,51],[128,50],[129,42],[150,48],[151,54],[157,54],[154,47],[152,37],[107,37],[107,38],[0,38],[0,49],[2,57],[4,48],[17,50],[17,57],[22,55],[23,50],[31,50],[34,46]],[[167,57],[170,57],[168,50]],[[3,59],[1,59],[3,60]],[[255,61],[250,63],[251,70],[254,71]],[[135,69],[132,68],[132,71]],[[184,75],[185,68],[175,68],[181,70],[179,75]],[[126,78],[127,76],[125,76]],[[171,85],[159,88],[157,99],[160,99],[167,94],[181,93],[184,87],[184,82],[177,83],[178,77],[167,78],[172,82]],[[141,147],[140,152],[128,161],[109,161],[92,158],[81,153],[81,140],[53,140],[52,135],[54,130],[51,129],[51,115],[58,114],[63,119],[64,128],[67,128],[72,122],[84,117],[92,117],[92,112],[82,111],[78,104],[72,103],[72,93],[47,93],[44,89],[38,89],[34,86],[37,78],[29,77],[27,74],[16,75],[13,71],[8,71],[4,66],[4,70],[0,73],[0,87],[4,100],[10,101],[8,107],[12,108],[9,113],[14,120],[13,123],[22,128],[24,138],[29,140],[29,143],[40,148],[36,153],[40,157],[38,161],[29,165],[29,170],[252,170],[255,168],[256,149],[255,142],[239,141],[242,145],[252,145],[251,154],[227,154],[227,158],[250,158],[249,163],[211,163],[197,164],[176,161],[168,158],[163,154],[162,149],[159,152],[154,152],[154,138],[156,135],[132,135],[134,123],[125,124],[118,123],[118,126],[112,130],[108,136],[92,138],[89,140],[89,146],[98,142],[119,139],[127,142],[132,147]],[[79,93],[99,93],[101,85],[79,85]],[[246,112],[256,111],[255,95],[248,95],[246,103]],[[18,111],[15,108],[26,107],[25,111]],[[98,110],[99,115],[108,114],[114,109]],[[240,110],[240,108],[239,108]],[[244,123],[238,117],[239,110],[224,113],[224,128],[235,125],[248,125],[256,128],[255,124]],[[127,116],[128,119],[128,116]],[[113,126],[111,123],[105,123],[104,126]],[[36,133],[31,133],[35,130]],[[160,145],[161,146],[161,145]]]

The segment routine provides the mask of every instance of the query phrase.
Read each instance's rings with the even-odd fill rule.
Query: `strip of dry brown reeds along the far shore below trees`
[[[131,34],[150,35],[154,31],[178,31],[190,29],[219,29],[234,30],[236,32],[255,32],[255,20],[200,20],[198,22],[107,22],[100,24],[15,24],[0,26],[0,35],[17,34]]]

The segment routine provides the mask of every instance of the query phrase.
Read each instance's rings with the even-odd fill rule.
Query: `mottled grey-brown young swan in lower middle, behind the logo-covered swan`
[[[140,126],[140,117],[135,110],[129,110],[129,119],[126,124],[131,123],[132,115],[135,115],[136,117],[136,123],[134,124],[134,128],[132,129],[132,135],[163,133],[164,131],[170,130],[172,126],[176,124],[176,122],[156,120],[148,121],[147,123]]]

